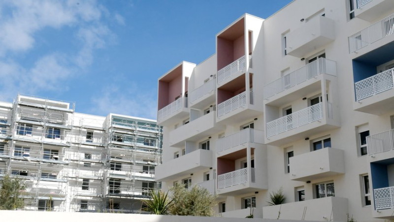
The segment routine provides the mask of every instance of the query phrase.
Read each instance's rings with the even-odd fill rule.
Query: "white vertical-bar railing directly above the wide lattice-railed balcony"
[[[320,58],[264,86],[264,99],[286,91],[322,73],[336,76],[336,63]]]

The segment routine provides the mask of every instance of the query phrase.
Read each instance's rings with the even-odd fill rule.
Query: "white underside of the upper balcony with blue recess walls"
[[[394,109],[394,89],[353,102],[356,111],[382,115]]]

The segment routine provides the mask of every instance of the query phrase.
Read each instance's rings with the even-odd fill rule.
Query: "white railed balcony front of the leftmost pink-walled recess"
[[[169,118],[182,113],[182,118],[186,117],[188,113],[185,108],[188,107],[188,98],[182,97],[171,102],[169,105],[165,106],[163,109],[158,111],[157,120],[158,122],[165,122]]]

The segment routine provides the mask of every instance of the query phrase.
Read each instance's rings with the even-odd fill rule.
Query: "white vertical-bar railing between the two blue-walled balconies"
[[[394,150],[394,129],[366,137],[368,155]]]

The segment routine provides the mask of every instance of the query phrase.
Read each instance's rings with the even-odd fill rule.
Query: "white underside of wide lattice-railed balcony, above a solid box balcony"
[[[297,140],[305,139],[307,137],[310,137],[311,135],[332,130],[338,127],[339,124],[335,123],[332,120],[327,120],[327,118],[324,118],[322,120],[315,121],[307,125],[268,137],[265,140],[265,144],[272,146],[283,146]]]

